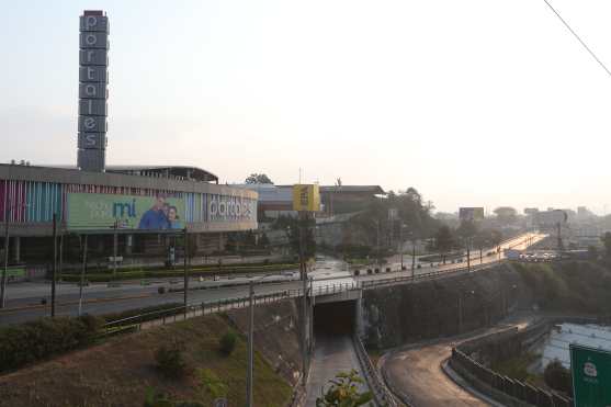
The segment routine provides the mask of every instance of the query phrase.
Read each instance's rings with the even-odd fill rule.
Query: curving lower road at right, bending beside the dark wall
[[[493,328],[471,335],[392,351],[384,354],[380,363],[396,395],[416,407],[498,405],[484,395],[459,386],[443,372],[442,363],[450,358],[452,347],[465,340],[512,327],[523,329],[532,321],[532,316],[511,317]]]

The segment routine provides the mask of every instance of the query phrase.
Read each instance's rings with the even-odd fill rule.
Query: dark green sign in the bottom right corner
[[[611,406],[611,352],[570,344],[575,407]]]

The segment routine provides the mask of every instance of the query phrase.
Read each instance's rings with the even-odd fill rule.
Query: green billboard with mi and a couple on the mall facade
[[[184,200],[165,196],[132,196],[69,193],[67,227],[75,229],[182,229]]]

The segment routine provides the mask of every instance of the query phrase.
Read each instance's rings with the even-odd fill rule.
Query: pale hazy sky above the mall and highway
[[[551,1],[611,65],[611,2]],[[2,162],[76,163],[78,18],[103,9],[109,163],[611,204],[611,78],[543,0],[1,4]]]

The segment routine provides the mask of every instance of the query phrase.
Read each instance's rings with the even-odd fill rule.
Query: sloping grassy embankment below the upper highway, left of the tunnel
[[[229,406],[244,406],[246,341],[240,336],[230,355],[219,351],[218,340],[230,329],[226,318],[213,315],[114,338],[0,376],[0,406],[142,406],[147,392],[205,406],[226,396]],[[183,378],[166,378],[155,366],[156,350],[173,341],[184,347]],[[291,393],[257,353],[254,405],[283,406]]]

